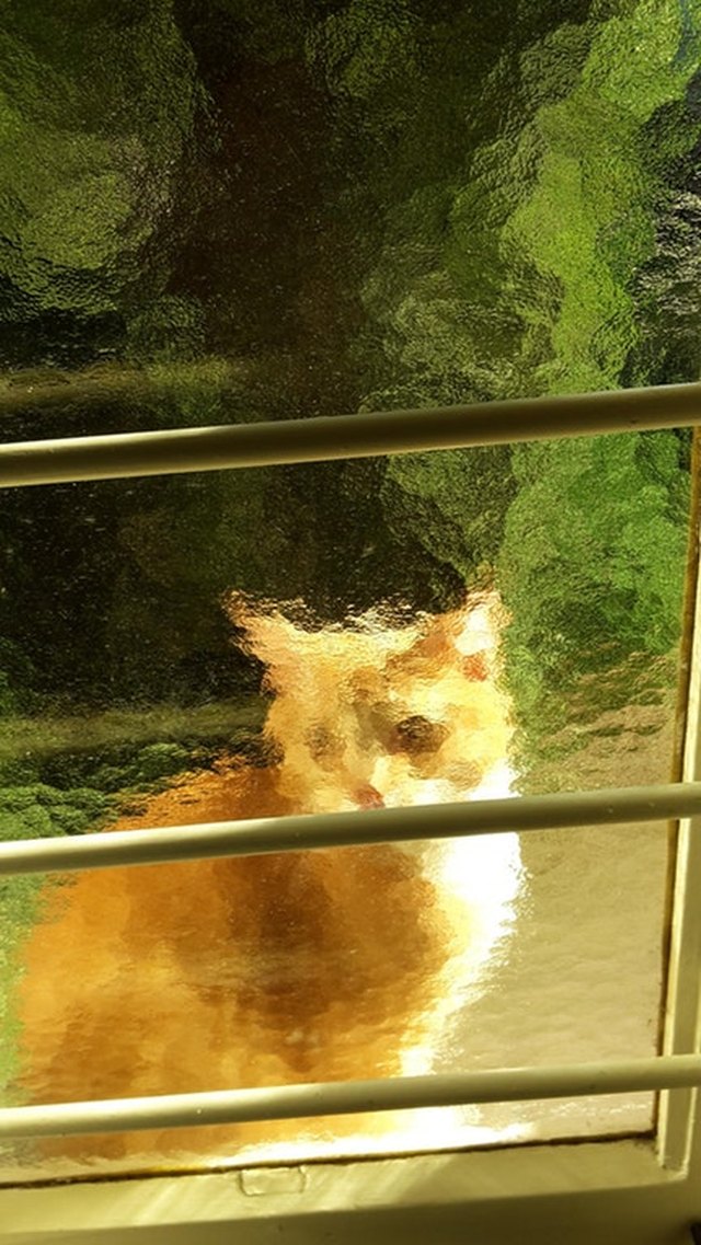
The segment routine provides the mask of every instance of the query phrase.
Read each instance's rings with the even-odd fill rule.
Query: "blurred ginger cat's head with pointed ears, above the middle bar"
[[[400,626],[382,610],[315,626],[299,603],[227,609],[274,693],[266,733],[300,812],[468,798],[506,766],[496,594]]]

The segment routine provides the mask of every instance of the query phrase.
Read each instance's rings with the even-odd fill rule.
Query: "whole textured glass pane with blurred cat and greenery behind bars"
[[[10,0],[0,439],[695,380],[700,41],[682,0]],[[6,489],[1,835],[667,781],[692,461],[682,430]],[[652,1055],[669,857],[583,827],[2,880],[4,1101]],[[637,1094],[117,1134],[0,1178],[652,1125]]]

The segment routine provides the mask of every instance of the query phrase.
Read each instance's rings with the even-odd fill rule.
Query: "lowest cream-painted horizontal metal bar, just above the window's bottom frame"
[[[484,1102],[585,1098],[591,1094],[680,1089],[701,1084],[701,1056],[563,1063],[542,1068],[498,1068],[388,1081],[341,1081],[219,1089],[210,1093],[111,1098],[0,1111],[0,1140],[120,1133],[144,1128],[184,1128],[374,1111],[416,1111]]]

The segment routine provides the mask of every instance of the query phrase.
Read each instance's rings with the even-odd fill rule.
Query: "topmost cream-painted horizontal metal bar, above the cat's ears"
[[[701,383],[696,382],[435,410],[65,437],[1,447],[0,486],[366,458],[700,422]]]

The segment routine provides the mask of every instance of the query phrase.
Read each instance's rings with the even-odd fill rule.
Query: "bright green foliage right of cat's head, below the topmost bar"
[[[523,758],[572,717],[576,688],[679,641],[689,477],[674,433],[520,447],[498,580]]]

